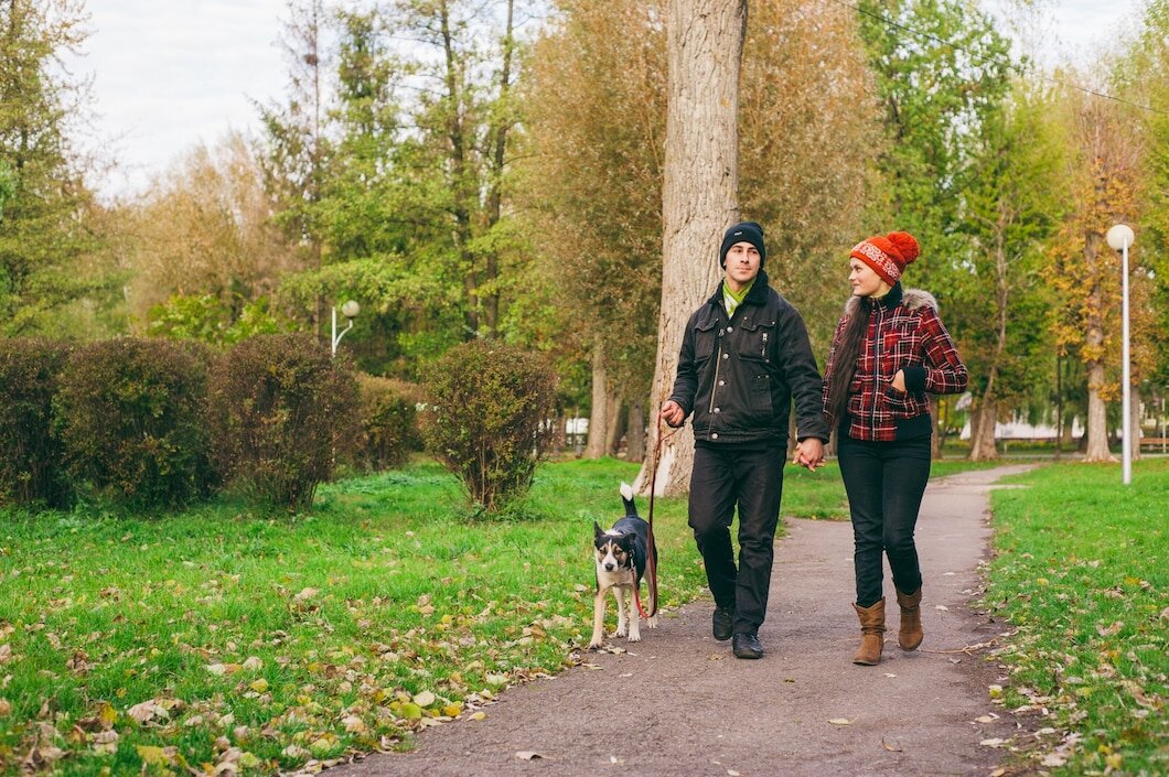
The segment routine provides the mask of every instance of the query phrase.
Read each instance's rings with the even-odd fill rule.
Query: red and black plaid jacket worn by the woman
[[[838,368],[844,368],[836,365],[836,347],[849,317],[858,306],[859,300],[850,298],[836,325],[824,369],[825,408],[829,381]],[[898,370],[905,372],[904,391],[892,386]],[[925,291],[902,292],[897,284],[876,300],[869,318],[869,334],[849,383],[849,437],[894,440],[899,438],[898,430],[902,430],[902,438],[913,436],[908,433],[911,429],[928,430],[926,393],[961,394],[967,379],[966,365],[938,318],[938,301]],[[835,426],[836,419],[829,417],[828,421]]]

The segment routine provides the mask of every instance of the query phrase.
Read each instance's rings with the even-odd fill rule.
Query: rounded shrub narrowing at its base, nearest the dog
[[[427,373],[427,450],[476,505],[498,512],[532,484],[554,431],[555,390],[538,354],[487,340],[456,346]]]

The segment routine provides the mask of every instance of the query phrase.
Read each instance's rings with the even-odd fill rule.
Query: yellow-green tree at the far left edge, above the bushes
[[[85,92],[57,57],[85,39],[76,0],[0,5],[0,326],[6,335],[62,332],[62,315],[108,290],[95,261],[97,210],[70,132]]]

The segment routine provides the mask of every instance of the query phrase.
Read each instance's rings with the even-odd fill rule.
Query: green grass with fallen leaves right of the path
[[[1018,627],[1001,701],[1056,729],[1025,749],[1053,775],[1169,773],[1169,462],[1127,487],[1118,465],[1011,480],[1029,487],[994,494],[987,595]]]

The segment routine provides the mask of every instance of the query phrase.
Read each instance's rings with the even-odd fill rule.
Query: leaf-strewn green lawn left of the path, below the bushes
[[[479,521],[427,462],[298,515],[0,511],[0,773],[30,754],[68,775],[270,773],[483,712],[587,643],[593,521],[620,516],[636,473],[548,464]],[[787,478],[784,515],[846,513],[835,464]],[[655,527],[663,604],[689,602],[705,576],[685,499],[657,500]]]

